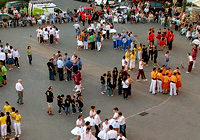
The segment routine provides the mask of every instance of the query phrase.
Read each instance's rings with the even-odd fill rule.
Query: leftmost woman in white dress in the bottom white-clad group
[[[80,140],[81,134],[83,133],[83,121],[82,121],[83,116],[79,115],[78,119],[76,121],[76,127],[72,129],[71,133],[73,135],[77,136],[77,140]]]

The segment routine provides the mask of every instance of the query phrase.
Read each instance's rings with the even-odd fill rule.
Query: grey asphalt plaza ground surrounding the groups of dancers
[[[57,0],[55,3],[62,9],[70,7],[74,9],[79,5],[87,5],[73,0]],[[8,42],[13,47],[18,48],[21,55],[20,69],[8,72],[8,85],[0,88],[0,109],[3,109],[4,102],[8,101],[11,106],[16,107],[22,115],[22,140],[72,140],[75,138],[70,131],[75,127],[76,115],[59,115],[56,98],[53,104],[54,116],[46,113],[47,103],[44,96],[47,88],[52,85],[54,96],[59,94],[73,95],[73,81],[60,82],[58,77],[56,81],[48,80],[48,69],[46,63],[53,53],[58,50],[62,54],[67,52],[69,56],[76,51],[76,39],[74,23],[56,24],[60,29],[59,45],[42,45],[37,43],[36,27],[19,27],[0,29],[0,39],[4,44]],[[115,24],[118,32],[122,30],[133,31],[138,42],[147,45],[147,32],[151,27],[155,31],[163,26],[159,24]],[[79,51],[83,62],[82,75],[84,78],[83,86],[83,116],[89,115],[91,105],[95,105],[97,110],[102,110],[101,119],[113,115],[112,109],[118,107],[127,118],[127,138],[128,140],[199,140],[200,139],[200,93],[199,93],[199,73],[200,62],[197,58],[197,67],[192,73],[186,74],[187,53],[191,52],[192,46],[185,37],[180,36],[179,32],[174,31],[175,41],[172,51],[170,51],[169,66],[175,69],[180,67],[181,60],[184,61],[185,69],[182,72],[182,84],[180,94],[176,97],[157,94],[151,95],[149,91],[150,72],[152,71],[151,62],[144,68],[147,82],[135,82],[132,84],[132,97],[124,100],[121,96],[108,97],[100,93],[99,77],[108,70],[113,70],[115,66],[118,69],[121,66],[121,59],[124,52],[113,50],[112,41],[106,40],[100,52],[96,50]],[[32,37],[30,37],[32,35]],[[32,46],[33,65],[28,64],[26,58],[26,47]],[[166,51],[166,49],[165,49]],[[164,64],[164,53],[159,52],[158,63]],[[136,70],[130,72],[132,79],[136,79],[138,63]],[[17,79],[23,80],[25,88],[24,105],[16,103],[17,94],[15,92],[15,83]],[[145,116],[139,113],[147,112]]]

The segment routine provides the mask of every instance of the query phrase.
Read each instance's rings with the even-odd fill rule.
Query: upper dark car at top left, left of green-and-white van
[[[28,3],[25,1],[11,1],[6,3],[6,8],[9,14],[13,14],[12,8],[16,8],[18,11],[21,7],[28,7]]]

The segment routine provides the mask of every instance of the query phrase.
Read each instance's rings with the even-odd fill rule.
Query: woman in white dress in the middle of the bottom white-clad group
[[[108,119],[105,119],[105,122],[103,122],[102,127],[101,127],[101,131],[98,134],[98,137],[102,140],[107,140],[107,132],[109,130],[109,123],[108,123]]]

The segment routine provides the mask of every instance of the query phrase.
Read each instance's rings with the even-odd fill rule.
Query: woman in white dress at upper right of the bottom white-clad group
[[[118,109],[117,107],[115,107],[115,108],[113,109],[114,115],[113,115],[113,117],[111,117],[111,119],[108,121],[109,124],[112,125],[113,128],[114,128],[114,130],[116,130],[117,132],[118,132],[119,127],[120,127],[120,124],[119,124],[119,122],[117,121],[117,119],[118,119],[118,112],[119,112],[119,109]]]

